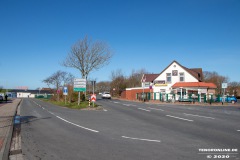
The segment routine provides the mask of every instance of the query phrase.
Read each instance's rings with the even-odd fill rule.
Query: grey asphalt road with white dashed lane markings
[[[37,99],[21,104],[27,160],[240,159],[240,107],[98,100],[82,111]]]

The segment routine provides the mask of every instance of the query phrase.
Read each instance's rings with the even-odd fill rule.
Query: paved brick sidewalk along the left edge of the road
[[[0,160],[7,160],[13,132],[13,121],[21,99],[0,104]]]

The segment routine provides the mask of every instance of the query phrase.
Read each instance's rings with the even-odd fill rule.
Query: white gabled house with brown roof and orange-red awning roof
[[[161,96],[168,94],[168,98],[173,98],[173,95],[176,95],[174,98],[178,100],[180,97],[185,98],[189,94],[200,96],[215,94],[216,85],[202,82],[202,80],[203,73],[201,68],[189,69],[177,61],[173,61],[160,74],[143,74],[141,79],[142,86],[127,88],[124,95],[126,99],[134,100],[136,95],[134,96],[129,92],[135,93],[138,90],[138,93],[143,93],[149,91],[154,93],[150,95],[151,99],[159,99]]]

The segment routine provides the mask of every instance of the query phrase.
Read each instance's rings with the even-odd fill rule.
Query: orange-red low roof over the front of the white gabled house
[[[199,87],[199,88],[217,88],[214,83],[206,83],[206,82],[177,82],[172,88],[180,88],[180,87]]]

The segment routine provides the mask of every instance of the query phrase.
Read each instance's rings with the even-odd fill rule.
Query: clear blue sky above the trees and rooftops
[[[60,62],[88,35],[114,51],[90,74],[110,80],[146,69],[160,73],[173,60],[240,81],[239,0],[0,0],[0,86],[47,87]]]

